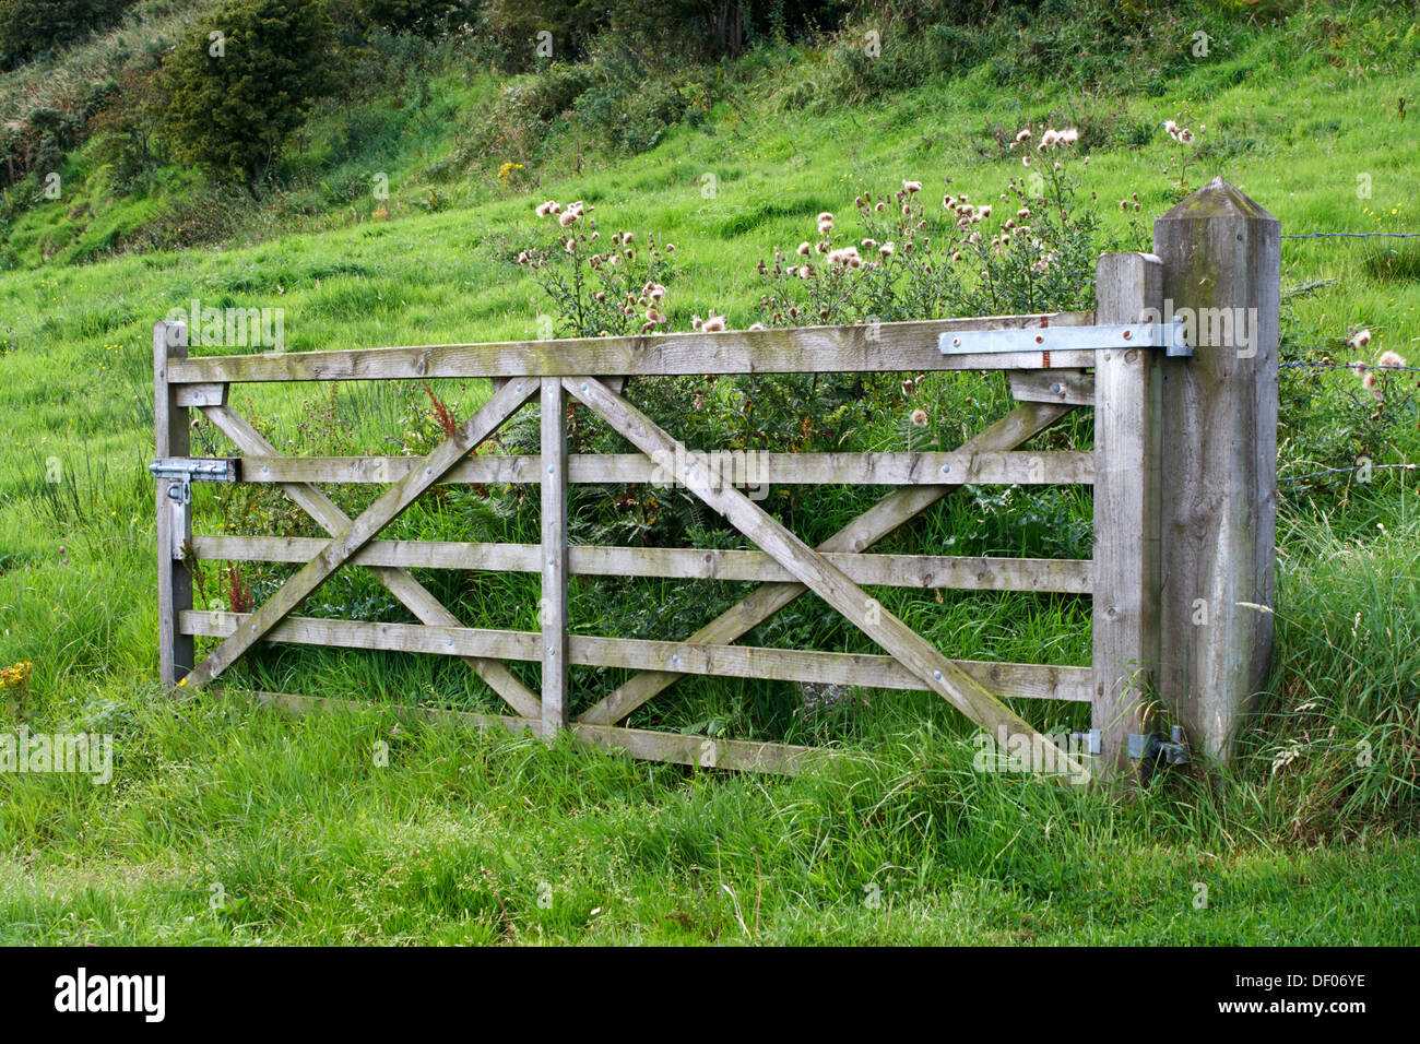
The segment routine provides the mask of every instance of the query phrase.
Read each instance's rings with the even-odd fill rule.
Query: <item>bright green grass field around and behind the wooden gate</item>
[[[760,318],[754,264],[809,236],[815,213],[849,214],[856,193],[909,178],[932,193],[950,176],[954,190],[991,199],[1021,172],[994,128],[1045,122],[1143,128],[1133,146],[1100,131],[1088,166],[1066,161],[1082,196],[1098,196],[1102,246],[1145,246],[1132,223],[1147,230],[1214,175],[1284,233],[1420,232],[1413,124],[1397,109],[1399,97],[1420,97],[1420,74],[1292,47],[1277,38],[1220,53],[1162,94],[1003,88],[981,68],[818,112],[785,101],[812,77],[801,55],[645,155],[602,158],[581,175],[550,165],[527,192],[469,182],[443,190],[447,209],[426,212],[427,186],[410,175],[403,187],[400,172],[452,148],[430,131],[390,145],[388,217],[366,209],[246,246],[0,271],[0,666],[33,662],[6,727],[23,716],[34,730],[115,737],[109,785],[0,774],[0,942],[1417,942],[1420,526],[1404,470],[1369,484],[1284,484],[1278,668],[1242,757],[1216,787],[1163,780],[1127,804],[973,771],[970,733],[920,695],[807,714],[792,686],[701,680],[632,720],[842,747],[832,770],[775,780],[400,724],[388,703],[496,706],[462,665],[413,656],[260,652],[239,685],[371,705],[295,722],[216,696],[175,703],[156,685],[151,330],[169,310],[192,298],[281,307],[294,351],[535,337],[550,305],[513,259],[542,234],[532,205],[555,197],[586,200],[604,229],[676,244],[672,328],[709,308],[744,327]],[[473,81],[430,105],[449,115],[486,97]],[[1206,128],[1183,185],[1179,148],[1160,129],[1169,118]],[[315,119],[312,148],[337,134],[335,119]],[[27,214],[16,241],[37,243],[64,213]],[[1420,362],[1411,243],[1287,240],[1284,359],[1348,361],[1345,339],[1369,328],[1367,361],[1387,348]],[[1420,460],[1410,376],[1373,415],[1349,371],[1288,371],[1281,474],[1349,466],[1358,447],[1376,463]],[[435,391],[460,415],[488,395],[483,382]],[[943,442],[1005,403],[977,376],[934,379],[923,395]],[[417,385],[241,386],[233,405],[297,452],[417,452],[435,437]],[[903,418],[879,416],[853,445],[913,437]],[[1078,446],[1088,425],[1051,437]],[[195,452],[222,446],[210,429],[196,433]],[[358,507],[372,493],[338,496]],[[1088,497],[1011,496],[954,497],[900,547],[1088,557]],[[771,503],[805,538],[861,510],[832,491]],[[456,491],[399,531],[528,540],[535,507]],[[298,531],[275,499],[219,503],[207,489],[196,526]],[[727,541],[706,520],[687,530]],[[283,575],[251,574],[258,598]],[[471,626],[535,629],[534,577],[430,587]],[[621,591],[578,582],[575,628],[669,638],[743,588]],[[964,658],[1088,662],[1088,599],[943,594],[883,602]],[[213,568],[199,602],[224,598]],[[754,641],[866,648],[804,602]],[[358,574],[338,575],[302,612],[405,619]],[[535,687],[535,672],[524,678]],[[579,705],[618,680],[575,678]],[[1021,710],[1042,726],[1083,724],[1078,710]],[[1360,743],[1373,753],[1365,766]]]

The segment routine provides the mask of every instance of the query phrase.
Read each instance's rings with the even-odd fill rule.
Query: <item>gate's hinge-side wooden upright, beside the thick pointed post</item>
[[[1105,254],[1095,321],[1140,322],[1163,300],[1149,254]],[[1159,659],[1159,392],[1163,348],[1095,352],[1093,727],[1098,776],[1127,781],[1129,734],[1145,732]]]

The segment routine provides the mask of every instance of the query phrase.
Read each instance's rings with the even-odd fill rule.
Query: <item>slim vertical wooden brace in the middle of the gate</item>
[[[567,398],[542,378],[542,734],[567,727]]]

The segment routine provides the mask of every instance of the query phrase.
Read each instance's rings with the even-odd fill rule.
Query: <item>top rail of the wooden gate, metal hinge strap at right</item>
[[[1089,327],[1092,311],[984,315],[926,322],[791,327],[716,334],[591,337],[317,352],[209,355],[168,361],[168,382],[408,381],[501,376],[670,376],[700,374],[843,374],[933,369],[1093,366],[1098,345],[943,355],[943,334]]]

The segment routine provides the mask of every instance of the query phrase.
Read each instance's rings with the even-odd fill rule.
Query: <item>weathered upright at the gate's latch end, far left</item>
[[[187,357],[183,322],[153,325],[153,430],[159,457],[189,453],[187,408],[168,384],[168,359]],[[192,541],[192,511],[168,496],[182,483],[158,479],[158,673],[163,685],[176,685],[193,666],[193,638],[179,631],[179,614],[192,608],[192,572],[182,551]]]

